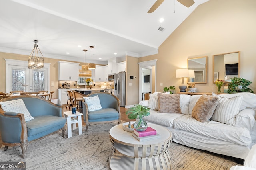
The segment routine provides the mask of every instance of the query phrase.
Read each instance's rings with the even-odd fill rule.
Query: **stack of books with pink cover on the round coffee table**
[[[157,134],[156,130],[153,129],[152,127],[148,127],[146,131],[142,131],[142,132],[136,131],[134,129],[132,136],[138,139],[138,141],[140,142],[160,138],[160,135]]]

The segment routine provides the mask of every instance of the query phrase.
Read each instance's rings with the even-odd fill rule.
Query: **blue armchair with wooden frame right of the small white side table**
[[[83,102],[83,117],[86,124],[86,132],[88,132],[88,125],[90,122],[114,121],[121,122],[120,101],[110,93],[96,92],[88,94],[86,97],[99,96],[102,109],[95,111],[88,111],[88,105]]]

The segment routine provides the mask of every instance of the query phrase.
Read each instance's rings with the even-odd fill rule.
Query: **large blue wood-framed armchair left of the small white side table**
[[[3,101],[22,99],[30,115],[34,119],[25,121],[24,114],[5,112],[0,108],[0,133],[2,143],[8,146],[20,146],[22,158],[26,158],[27,146],[31,141],[52,135],[62,129],[62,136],[66,131],[66,119],[63,107],[37,96],[14,96]]]

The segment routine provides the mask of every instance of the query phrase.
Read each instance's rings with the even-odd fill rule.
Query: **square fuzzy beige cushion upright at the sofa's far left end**
[[[158,113],[181,113],[180,94],[158,93]]]

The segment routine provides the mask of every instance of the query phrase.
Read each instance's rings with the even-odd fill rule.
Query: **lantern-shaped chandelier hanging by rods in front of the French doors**
[[[34,48],[28,57],[28,68],[29,69],[40,69],[44,68],[44,56],[42,55],[38,45],[38,41],[34,40]],[[38,56],[38,51],[41,53],[42,57]],[[35,54],[34,54],[35,53]]]

